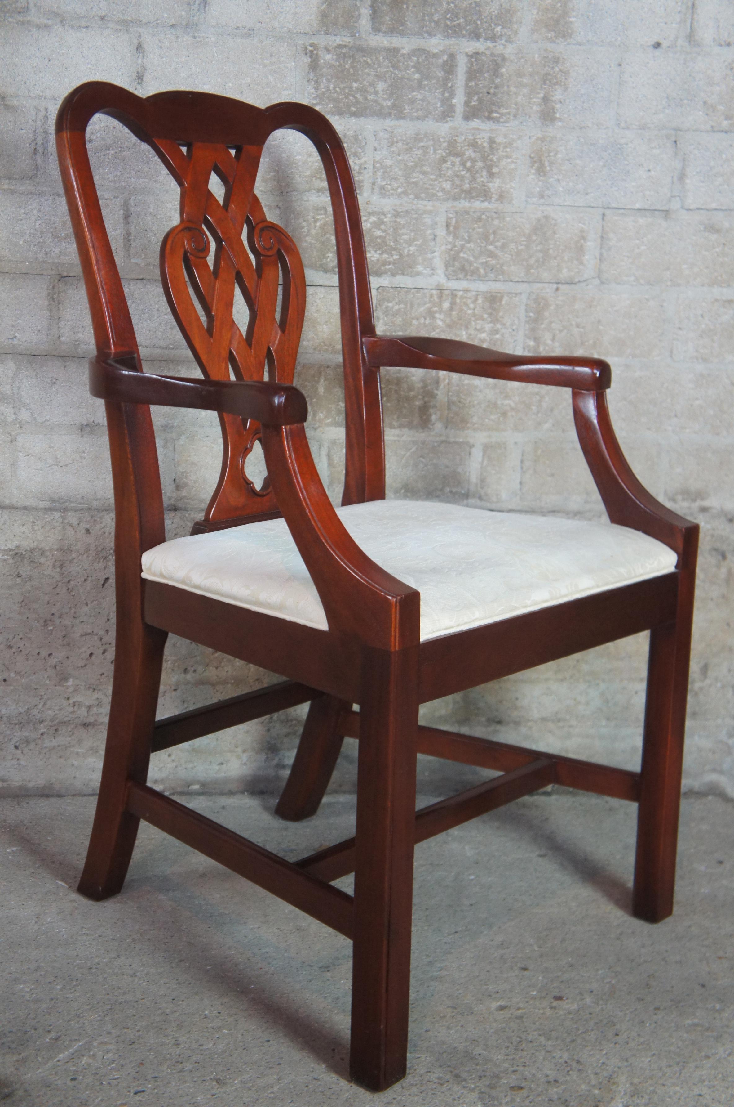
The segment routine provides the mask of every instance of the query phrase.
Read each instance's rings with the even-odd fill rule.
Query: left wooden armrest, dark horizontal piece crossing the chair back
[[[99,400],[227,412],[270,426],[305,423],[306,397],[292,384],[270,381],[200,381],[141,373],[135,355],[93,358],[90,392]]]

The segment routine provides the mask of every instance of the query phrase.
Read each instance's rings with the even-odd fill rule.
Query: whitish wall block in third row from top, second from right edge
[[[672,135],[573,132],[531,138],[529,204],[668,208]]]

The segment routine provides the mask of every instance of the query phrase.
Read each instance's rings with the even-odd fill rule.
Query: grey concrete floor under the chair
[[[349,834],[262,796],[191,806],[284,856]],[[672,919],[629,915],[635,808],[558,792],[418,847],[409,1075],[348,1083],[349,943],[143,827],[123,893],[73,890],[90,798],[0,803],[9,1107],[731,1107],[734,807],[683,804]],[[343,882],[348,887],[348,881]]]

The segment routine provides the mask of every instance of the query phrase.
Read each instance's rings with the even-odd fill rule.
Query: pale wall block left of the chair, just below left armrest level
[[[17,437],[14,500],[34,507],[112,507],[107,436],[21,433]]]

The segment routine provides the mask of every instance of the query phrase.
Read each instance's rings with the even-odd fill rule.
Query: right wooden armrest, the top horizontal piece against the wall
[[[583,392],[600,392],[611,384],[611,369],[600,358],[523,358],[453,339],[412,334],[373,335],[363,340],[367,364],[406,369],[441,369],[449,373],[487,376],[497,381],[554,384]]]

